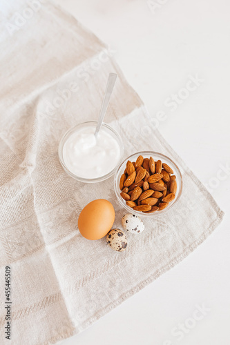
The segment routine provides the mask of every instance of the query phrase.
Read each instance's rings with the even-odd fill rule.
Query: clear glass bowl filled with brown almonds
[[[170,210],[180,199],[182,175],[169,157],[143,151],[120,164],[114,186],[119,204],[128,213],[153,217]]]

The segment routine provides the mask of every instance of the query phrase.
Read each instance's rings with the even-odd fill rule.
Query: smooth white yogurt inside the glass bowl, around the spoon
[[[111,172],[120,159],[116,139],[103,127],[97,139],[95,128],[85,127],[74,132],[63,147],[63,159],[70,172],[85,179],[95,179]]]

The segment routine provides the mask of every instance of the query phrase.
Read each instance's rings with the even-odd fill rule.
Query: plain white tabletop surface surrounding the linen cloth
[[[181,264],[61,344],[229,345],[230,169],[217,179],[220,165],[230,166],[229,0],[155,0],[164,3],[155,13],[145,0],[56,1],[116,51],[151,117],[166,112],[160,132],[226,212]],[[196,74],[204,81],[171,111],[164,101]],[[179,340],[171,330],[197,304],[210,310]]]

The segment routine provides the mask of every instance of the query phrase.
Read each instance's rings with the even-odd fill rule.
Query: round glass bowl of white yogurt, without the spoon
[[[122,161],[124,145],[117,132],[107,124],[95,137],[97,121],[70,128],[59,143],[59,160],[71,177],[82,182],[108,179]]]

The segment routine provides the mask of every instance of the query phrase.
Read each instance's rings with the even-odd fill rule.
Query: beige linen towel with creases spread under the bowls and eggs
[[[0,339],[6,326],[5,266],[12,270],[14,345],[54,344],[83,331],[189,255],[218,226],[222,211],[151,125],[111,52],[69,14],[44,0],[1,2],[0,33]],[[155,150],[182,170],[183,195],[168,213],[144,220],[116,253],[105,239],[79,234],[91,200],[125,210],[113,178],[82,184],[66,175],[57,147],[70,126],[95,120],[109,72],[119,80],[106,122],[126,155]],[[179,134],[179,133],[178,133]],[[135,137],[135,140],[133,140]]]

